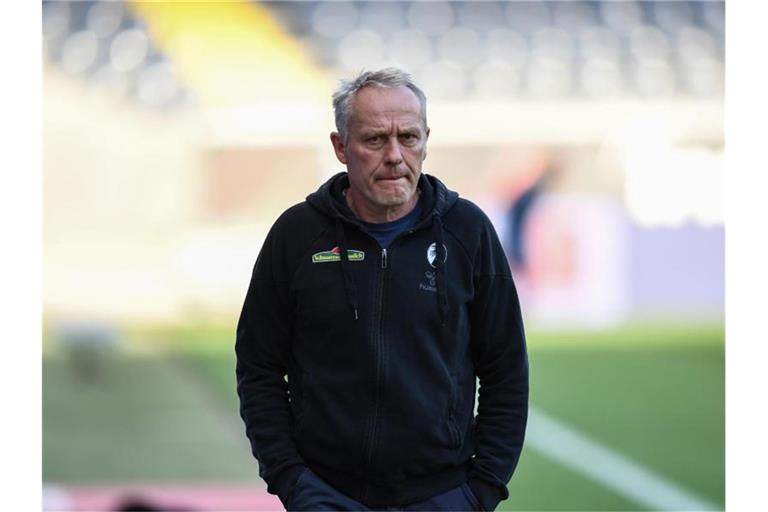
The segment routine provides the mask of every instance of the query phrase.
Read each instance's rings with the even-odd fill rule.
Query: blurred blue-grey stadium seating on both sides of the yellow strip
[[[724,2],[260,2],[334,76],[410,71],[435,99],[723,93]],[[148,107],[192,95],[122,1],[43,2],[44,51]]]

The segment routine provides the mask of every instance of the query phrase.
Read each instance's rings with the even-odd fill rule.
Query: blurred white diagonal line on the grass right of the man
[[[560,423],[529,410],[526,444],[560,464],[653,510],[722,510],[624,455]]]

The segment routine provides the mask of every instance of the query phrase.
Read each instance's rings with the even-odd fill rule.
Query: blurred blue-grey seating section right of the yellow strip
[[[433,97],[723,92],[723,2],[262,2],[335,75],[397,65]]]

